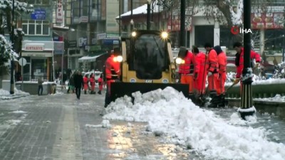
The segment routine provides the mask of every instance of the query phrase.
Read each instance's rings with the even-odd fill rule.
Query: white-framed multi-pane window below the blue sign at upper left
[[[22,28],[26,35],[29,36],[48,36],[49,21],[45,20],[23,20]]]

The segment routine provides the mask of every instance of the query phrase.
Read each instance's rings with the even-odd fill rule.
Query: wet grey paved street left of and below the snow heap
[[[0,101],[0,160],[199,159],[145,132],[145,123],[100,127],[104,95],[47,95]]]

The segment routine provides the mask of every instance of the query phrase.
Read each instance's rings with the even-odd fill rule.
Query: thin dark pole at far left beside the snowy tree
[[[12,43],[12,50],[14,50],[14,0],[12,1],[12,31],[10,41]],[[9,22],[8,22],[9,23]],[[10,94],[14,94],[14,56],[11,56],[11,78],[10,78]]]

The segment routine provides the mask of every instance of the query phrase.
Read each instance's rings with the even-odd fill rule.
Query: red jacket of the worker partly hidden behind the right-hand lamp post
[[[260,55],[259,53],[254,52],[254,50],[250,51],[250,59],[255,61],[257,63],[260,63]],[[240,78],[242,75],[242,69],[244,69],[244,48],[242,48],[242,52],[236,54],[236,66],[237,66],[237,74],[236,78]]]

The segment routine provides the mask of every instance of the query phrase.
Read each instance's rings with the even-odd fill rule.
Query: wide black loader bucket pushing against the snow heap
[[[182,92],[185,97],[189,96],[189,85],[179,83],[144,83],[144,82],[112,82],[111,83],[111,101],[115,101],[118,97],[128,95],[132,97],[133,92],[140,91],[142,94],[152,90],[164,89],[165,87],[173,87],[175,90]]]

